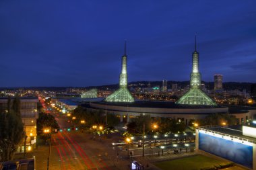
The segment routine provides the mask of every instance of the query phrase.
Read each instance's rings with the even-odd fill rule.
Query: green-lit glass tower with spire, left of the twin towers
[[[106,97],[105,101],[109,102],[133,102],[133,96],[127,89],[127,55],[126,55],[126,41],[125,54],[122,56],[122,71],[119,77],[119,89],[113,94]]]

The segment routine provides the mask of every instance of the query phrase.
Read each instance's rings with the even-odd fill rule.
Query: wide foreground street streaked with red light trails
[[[71,126],[65,118],[59,117],[56,120],[63,129]],[[111,138],[96,136],[96,140],[93,140],[92,136],[88,132],[75,130],[53,133],[49,169],[119,169],[115,159],[117,153],[120,157],[122,153],[120,148],[112,146],[112,141],[120,137],[110,134]],[[40,146],[35,152],[36,169],[46,169],[48,151],[49,146]],[[123,160],[123,163],[128,165],[129,161]]]

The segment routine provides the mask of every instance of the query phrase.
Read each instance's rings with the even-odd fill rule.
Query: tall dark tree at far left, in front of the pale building
[[[7,112],[0,113],[0,161],[13,159],[18,144],[24,137],[24,125],[20,117],[20,99],[18,96],[7,101]]]

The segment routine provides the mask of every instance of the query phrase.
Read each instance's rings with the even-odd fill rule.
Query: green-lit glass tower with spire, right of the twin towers
[[[199,73],[199,53],[197,52],[197,36],[195,35],[195,51],[192,53],[192,73],[190,89],[178,101],[187,105],[217,105],[213,99],[201,91],[201,73]]]

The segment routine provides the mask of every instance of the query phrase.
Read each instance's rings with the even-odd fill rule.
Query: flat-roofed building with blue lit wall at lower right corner
[[[221,157],[256,170],[256,134],[253,132],[256,132],[254,126],[197,128],[195,148],[199,153]]]

